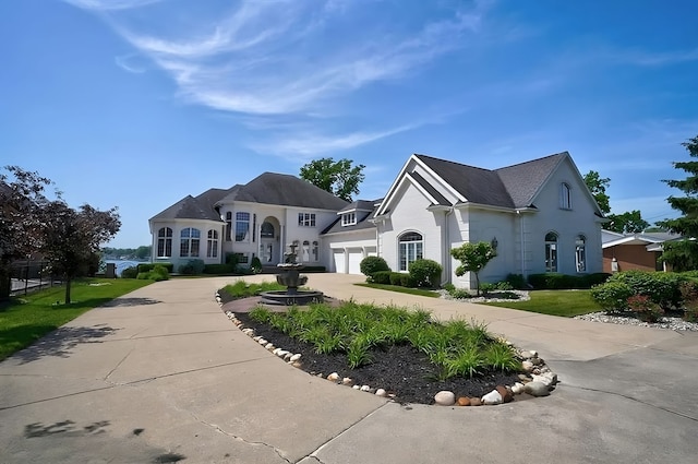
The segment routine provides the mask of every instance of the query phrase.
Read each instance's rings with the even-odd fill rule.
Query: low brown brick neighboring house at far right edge
[[[618,234],[602,230],[603,272],[666,271],[659,261],[662,243],[681,236],[671,233]]]

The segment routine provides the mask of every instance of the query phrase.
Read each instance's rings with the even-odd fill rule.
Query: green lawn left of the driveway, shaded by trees
[[[88,278],[73,282],[73,302],[70,305],[62,304],[65,294],[63,286],[0,302],[0,360],[83,312],[152,283],[135,278]],[[57,301],[61,304],[57,305]]]

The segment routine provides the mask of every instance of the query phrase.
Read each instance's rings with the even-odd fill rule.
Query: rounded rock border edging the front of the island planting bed
[[[216,301],[222,307],[222,301],[218,293],[216,293]],[[302,368],[302,354],[290,353],[286,349],[275,346],[266,338],[255,335],[254,329],[245,328],[242,324],[242,321],[240,321],[236,317],[234,312],[226,311],[226,316],[233,324],[236,324],[238,329],[242,331],[242,333],[250,336],[260,345],[264,346],[264,348],[266,348],[268,352],[284,359],[284,361],[296,368]],[[456,397],[456,394],[454,392],[444,390],[434,395],[434,404],[441,406],[493,406],[497,404],[510,403],[514,401],[515,395],[519,395],[521,393],[527,393],[531,396],[550,395],[550,392],[553,391],[555,389],[555,385],[558,383],[557,374],[550,370],[550,368],[545,365],[545,361],[538,356],[538,352],[535,350],[519,350],[517,352],[517,355],[520,359],[522,359],[521,370],[524,370],[524,372],[526,373],[519,373],[520,381],[516,382],[514,385],[497,385],[494,390],[483,395],[482,397]],[[388,398],[395,397],[395,394],[386,392],[385,389],[373,388],[371,385],[354,384],[353,379],[349,377],[342,378],[337,372],[332,372],[327,377],[320,372],[316,373],[315,377],[325,378],[333,383],[351,386],[354,390],[368,392],[376,396]]]

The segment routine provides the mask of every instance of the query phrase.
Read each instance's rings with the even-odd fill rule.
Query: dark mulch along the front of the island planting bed
[[[225,298],[224,298],[225,300]],[[456,378],[445,381],[436,379],[436,369],[429,358],[410,345],[394,345],[385,349],[371,352],[373,362],[357,369],[347,367],[344,354],[318,355],[306,343],[291,338],[282,332],[267,325],[254,322],[248,312],[256,306],[258,299],[245,298],[224,305],[224,311],[232,311],[242,321],[243,326],[254,329],[255,335],[261,335],[275,346],[291,353],[300,353],[302,369],[311,374],[322,373],[327,377],[337,372],[340,378],[349,377],[358,385],[370,385],[374,389],[385,389],[395,394],[395,401],[400,403],[433,404],[434,395],[448,390],[456,396],[481,397],[494,390],[496,385],[513,385],[518,381],[516,373],[486,372],[472,379]],[[284,310],[285,307],[270,307]]]

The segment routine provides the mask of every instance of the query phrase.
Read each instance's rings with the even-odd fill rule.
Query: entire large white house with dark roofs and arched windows
[[[452,248],[496,247],[484,282],[601,272],[603,222],[567,152],[494,170],[412,155],[381,200],[347,203],[293,176],[265,172],[186,197],[154,216],[151,233],[154,261],[217,263],[234,252],[242,263],[257,255],[276,264],[296,243],[300,262],[329,272],[358,274],[368,255],[407,272],[425,258],[443,265],[443,282],[470,288],[474,276],[455,275]]]

